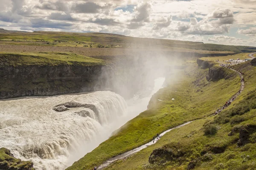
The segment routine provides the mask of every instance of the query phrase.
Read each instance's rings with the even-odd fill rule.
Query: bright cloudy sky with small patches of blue
[[[256,0],[0,0],[0,28],[256,46]]]

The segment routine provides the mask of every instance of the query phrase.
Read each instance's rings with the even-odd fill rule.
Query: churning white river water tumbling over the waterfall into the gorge
[[[145,111],[151,96],[163,85],[155,80],[151,94],[125,101],[111,91],[0,101],[0,147],[15,157],[30,160],[38,170],[63,170],[128,120]],[[56,112],[64,102],[94,105]]]

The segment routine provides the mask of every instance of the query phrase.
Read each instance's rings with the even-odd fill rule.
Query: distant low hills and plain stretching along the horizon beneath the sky
[[[177,48],[178,51],[196,50],[201,53],[211,53],[210,51],[230,52],[251,52],[256,47],[204,44],[202,42],[189,42],[178,40],[161,40],[149,38],[134,38],[116,34],[101,33],[68,33],[68,32],[13,32],[1,31],[0,40],[2,44],[12,45],[58,45],[58,46],[81,46],[81,47],[140,47],[145,48]],[[193,51],[195,52],[195,51]],[[216,52],[214,52],[216,53]]]

